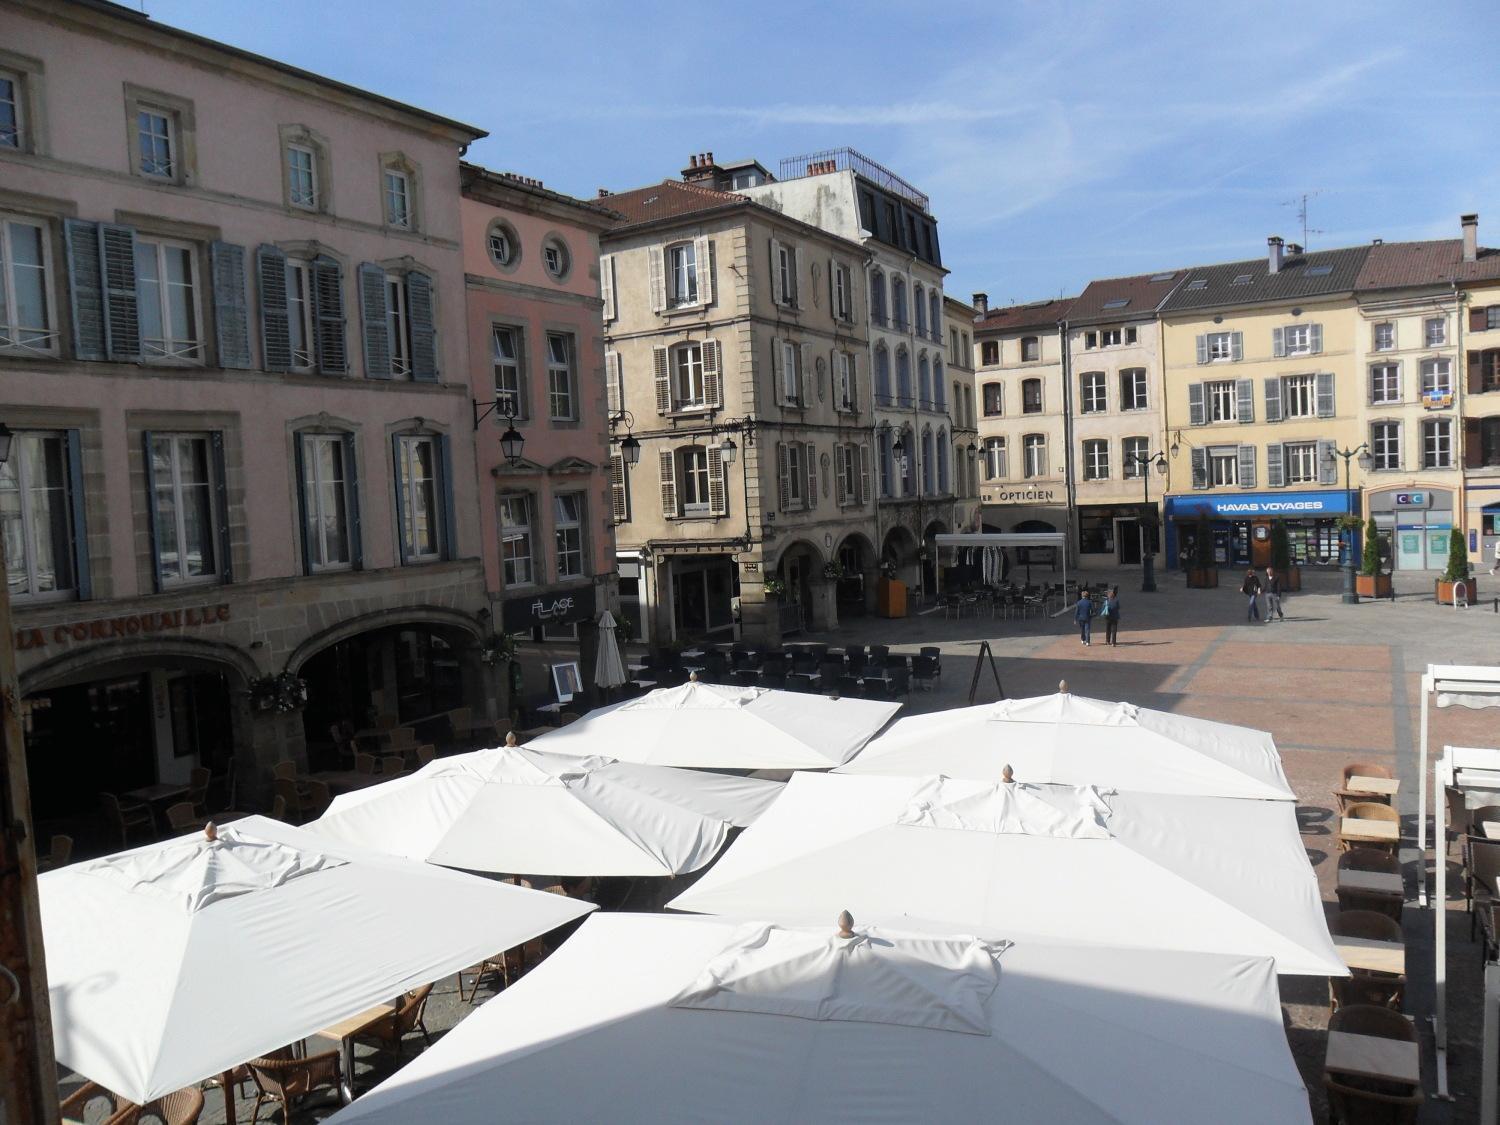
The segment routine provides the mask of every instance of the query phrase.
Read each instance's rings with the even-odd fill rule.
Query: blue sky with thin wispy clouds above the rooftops
[[[1312,249],[1466,212],[1500,244],[1492,0],[129,2],[488,129],[468,159],[585,198],[699,152],[858,148],[992,306],[1260,256],[1302,240],[1302,194]]]

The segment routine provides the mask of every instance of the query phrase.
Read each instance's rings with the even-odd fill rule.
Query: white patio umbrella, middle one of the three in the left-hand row
[[[496,747],[338,796],[308,828],[471,872],[681,874],[780,792],[777,782]]]

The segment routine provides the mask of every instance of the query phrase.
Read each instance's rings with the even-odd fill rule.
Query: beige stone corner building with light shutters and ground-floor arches
[[[874,597],[868,255],[728,190],[765,176],[694,156],[606,201],[621,604],[651,644],[774,642]]]

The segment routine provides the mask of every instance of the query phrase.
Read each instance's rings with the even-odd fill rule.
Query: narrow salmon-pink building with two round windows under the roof
[[[548,662],[576,660],[590,693],[594,622],[615,608],[621,466],[608,436],[598,234],[616,216],[474,165],[462,186],[484,588],[495,630],[522,648],[507,702],[524,716],[555,700]],[[524,440],[516,459],[507,432]]]

